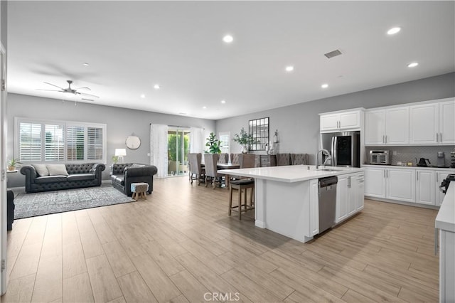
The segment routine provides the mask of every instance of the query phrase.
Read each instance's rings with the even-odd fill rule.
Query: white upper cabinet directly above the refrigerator
[[[320,114],[320,130],[321,132],[360,130],[363,125],[363,115],[363,109]]]

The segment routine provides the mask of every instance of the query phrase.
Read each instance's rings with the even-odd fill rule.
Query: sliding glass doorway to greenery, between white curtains
[[[168,127],[168,176],[188,174],[190,129]]]

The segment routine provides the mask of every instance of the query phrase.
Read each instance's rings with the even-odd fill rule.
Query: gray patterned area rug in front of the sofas
[[[133,202],[110,186],[66,189],[43,193],[21,193],[14,198],[14,219],[77,211],[79,209]]]

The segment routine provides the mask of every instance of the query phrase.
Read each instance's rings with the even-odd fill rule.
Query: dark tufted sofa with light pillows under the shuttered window
[[[80,188],[101,185],[101,172],[106,166],[102,163],[65,164],[68,176],[40,176],[33,165],[21,167],[26,176],[26,192],[58,191],[60,189]]]

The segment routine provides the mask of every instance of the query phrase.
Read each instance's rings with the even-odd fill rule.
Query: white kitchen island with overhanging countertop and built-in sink
[[[218,173],[255,179],[255,225],[307,242],[319,233],[319,178],[338,176],[336,223],[363,209],[363,169],[326,166],[223,169]]]

